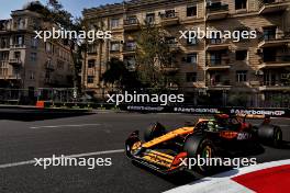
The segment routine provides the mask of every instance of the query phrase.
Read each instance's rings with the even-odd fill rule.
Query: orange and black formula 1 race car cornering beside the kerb
[[[259,126],[246,123],[246,118],[264,118]],[[164,174],[188,169],[181,164],[188,158],[234,157],[253,150],[261,143],[279,146],[282,130],[270,124],[270,117],[260,115],[219,114],[212,120],[200,118],[196,124],[167,132],[159,123],[144,132],[138,130],[125,141],[126,156],[143,166]],[[194,171],[210,174],[213,167],[196,166]]]

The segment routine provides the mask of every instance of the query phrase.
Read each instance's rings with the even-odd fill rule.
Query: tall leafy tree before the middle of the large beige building
[[[140,81],[153,89],[165,89],[168,82],[177,83],[177,77],[167,71],[175,66],[175,50],[166,41],[161,26],[146,23],[142,26],[137,41],[136,71]]]

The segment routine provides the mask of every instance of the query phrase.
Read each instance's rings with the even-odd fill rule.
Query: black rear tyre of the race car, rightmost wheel
[[[282,130],[279,126],[263,125],[258,129],[258,137],[261,143],[279,147],[282,143]]]

